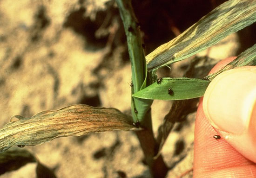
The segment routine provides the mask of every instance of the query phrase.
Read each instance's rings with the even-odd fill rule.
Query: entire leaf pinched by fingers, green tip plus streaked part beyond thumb
[[[221,70],[216,71],[209,76],[206,76],[208,80],[201,80],[196,78],[162,78],[161,83],[153,83],[145,89],[140,90],[133,94],[134,97],[143,99],[155,99],[155,100],[184,100],[190,98],[196,98],[203,96],[210,81],[215,76],[225,70],[230,70],[235,67],[241,67],[256,65],[256,44],[247,50],[243,51],[235,60],[231,61]],[[168,89],[171,89],[173,95],[168,94]]]

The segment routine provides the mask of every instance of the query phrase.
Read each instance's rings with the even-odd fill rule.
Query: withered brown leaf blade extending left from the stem
[[[58,137],[134,129],[131,116],[115,108],[94,108],[76,104],[55,111],[43,111],[31,118],[13,116],[0,129],[0,152],[12,146],[39,145]]]

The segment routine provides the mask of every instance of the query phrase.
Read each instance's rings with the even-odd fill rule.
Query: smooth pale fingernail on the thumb
[[[216,76],[204,94],[203,110],[219,130],[248,132],[251,119],[256,119],[256,67],[240,67]]]

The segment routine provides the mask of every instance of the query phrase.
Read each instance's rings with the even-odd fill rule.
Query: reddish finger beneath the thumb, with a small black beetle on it
[[[210,73],[235,58],[221,61]],[[256,178],[256,163],[230,146],[222,132],[211,126],[203,112],[202,101],[203,98],[200,99],[195,120],[194,178]],[[214,135],[221,135],[221,139],[214,139]]]

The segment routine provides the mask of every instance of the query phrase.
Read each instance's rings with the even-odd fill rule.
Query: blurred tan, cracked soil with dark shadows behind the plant
[[[133,0],[146,55],[175,38],[223,0]],[[190,59],[158,71],[180,77],[195,57],[209,71],[256,42],[256,25],[223,39]],[[206,75],[204,71],[201,75]],[[201,76],[200,76],[201,77]],[[31,117],[81,103],[117,108],[130,114],[131,66],[126,37],[113,0],[0,1],[0,127],[12,115]],[[153,128],[161,124],[172,102],[154,101]],[[195,113],[176,123],[162,155],[168,178],[193,167]],[[91,133],[26,146],[57,178],[150,178],[136,135]],[[1,168],[0,168],[1,169]],[[0,178],[35,178],[29,163]],[[192,178],[187,172],[182,178]]]

